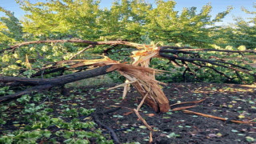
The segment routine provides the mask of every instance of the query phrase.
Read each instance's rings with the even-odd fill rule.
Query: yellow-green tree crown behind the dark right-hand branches
[[[184,8],[181,14],[174,10],[176,2],[158,1],[158,6],[151,10],[146,24],[150,38],[154,41],[182,42],[191,46],[209,46],[212,43],[210,31],[213,29],[206,26],[214,26],[220,22],[232,10],[231,7],[219,13],[216,18],[210,20],[212,6],[207,4],[197,14],[197,8]]]

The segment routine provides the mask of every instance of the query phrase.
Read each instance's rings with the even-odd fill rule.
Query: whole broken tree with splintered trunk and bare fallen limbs
[[[54,86],[62,86],[66,83],[75,82],[85,78],[92,78],[116,70],[119,74],[122,74],[126,78],[126,83],[120,85],[124,86],[122,98],[126,98],[126,94],[130,89],[131,84],[138,90],[139,94],[142,95],[143,101],[145,100],[146,104],[151,106],[154,109],[154,111],[166,112],[170,109],[169,101],[166,98],[165,94],[162,92],[161,87],[158,86],[158,84],[161,84],[162,82],[158,82],[155,80],[155,74],[164,71],[150,68],[149,66],[151,58],[167,58],[170,60],[170,62],[173,62],[177,66],[184,66],[186,69],[183,71],[183,75],[185,75],[186,72],[194,74],[194,70],[190,66],[195,66],[197,67],[197,69],[209,68],[211,70],[214,70],[214,72],[221,74],[229,80],[234,79],[234,77],[225,74],[221,70],[217,70],[216,66],[219,66],[224,69],[231,70],[234,74],[236,74],[237,78],[241,79],[241,81],[243,81],[241,74],[248,74],[253,78],[256,78],[256,75],[254,74],[254,68],[250,66],[241,66],[232,62],[227,62],[225,59],[218,58],[216,56],[213,56],[211,58],[202,58],[203,54],[200,54],[200,52],[218,52],[226,54],[255,54],[255,50],[195,49],[192,47],[142,45],[138,43],[124,41],[91,42],[85,40],[46,40],[23,42],[14,46],[10,46],[5,50],[1,50],[1,52],[10,53],[21,46],[55,42],[86,43],[89,46],[87,46],[83,50],[78,51],[77,54],[74,54],[72,57],[70,57],[70,60],[50,62],[46,64],[41,69],[37,69],[37,73],[32,75],[32,77],[43,75],[44,73],[42,71],[44,70],[49,70],[46,74],[51,74],[63,70],[75,70],[75,73],[58,76],[56,78],[22,78],[1,76],[0,82],[2,83],[10,84],[11,82],[15,83],[16,86],[22,85],[32,87],[27,88],[26,90],[23,90],[16,94],[10,94],[0,97],[0,102],[4,102],[12,98],[21,97],[23,94],[30,94],[32,92],[47,90]],[[132,52],[133,55],[131,55],[130,57],[133,58],[133,62],[130,64],[116,62],[106,56],[102,56],[102,59],[94,60],[73,60],[73,58],[76,58],[78,54],[82,54],[85,50],[93,48],[97,45],[126,45],[136,47],[138,50]],[[30,65],[28,58],[26,58],[26,62],[28,63],[28,65]],[[66,64],[66,66],[60,67],[63,64]],[[89,66],[91,70],[84,71],[84,66]]]

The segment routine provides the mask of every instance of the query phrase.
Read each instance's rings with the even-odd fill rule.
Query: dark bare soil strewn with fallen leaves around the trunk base
[[[70,91],[75,98],[61,102],[55,98],[51,105],[54,110],[63,104],[95,108],[95,113],[114,109],[108,114],[98,114],[106,126],[115,130],[121,142],[146,143],[149,131],[138,117],[128,108],[136,108],[141,101],[140,95],[132,89],[122,101],[122,88],[106,91],[110,86],[82,87]],[[252,121],[256,118],[256,87],[247,85],[173,83],[163,88],[170,105],[176,102],[190,102],[206,98],[198,106],[189,110],[203,114],[228,118],[226,122],[205,118],[182,111],[155,114],[149,106],[142,106],[140,114],[154,127],[154,143],[252,143],[248,138],[256,138],[255,124],[237,124],[230,120]],[[78,101],[78,99],[80,101]],[[74,103],[76,105],[74,105]],[[175,108],[175,107],[173,107]],[[54,114],[54,113],[53,113]],[[57,113],[55,113],[57,114]],[[89,116],[90,118],[90,116]],[[13,127],[4,126],[4,130]],[[3,131],[3,130],[2,130]],[[108,130],[103,130],[103,134]],[[109,137],[110,138],[110,137]],[[255,141],[254,141],[255,142]]]

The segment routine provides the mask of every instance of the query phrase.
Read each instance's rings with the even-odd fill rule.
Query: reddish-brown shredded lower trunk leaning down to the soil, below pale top
[[[162,82],[158,82],[152,77],[156,70],[126,64],[115,64],[108,70],[117,70],[119,74],[122,74],[129,82],[132,82],[131,84],[142,95],[142,98],[146,97],[146,104],[151,106],[154,111],[167,112],[170,109],[169,101],[158,85],[158,83]],[[124,93],[127,93],[127,91],[124,91]]]

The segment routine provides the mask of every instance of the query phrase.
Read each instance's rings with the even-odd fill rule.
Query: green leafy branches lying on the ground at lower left
[[[8,87],[2,88],[2,90],[8,90]],[[54,93],[36,94],[34,95],[36,98],[24,95],[18,99],[17,104],[15,102],[2,103],[0,105],[0,126],[9,121],[13,123],[13,126],[17,127],[17,130],[5,130],[0,135],[0,144],[25,144],[42,141],[49,143],[113,143],[104,137],[105,135],[102,134],[101,130],[96,129],[96,124],[90,118],[86,120],[80,118],[87,118],[94,112],[94,109],[86,109],[84,107],[66,109],[55,105],[58,109],[62,109],[58,112],[58,109],[50,108],[53,95]],[[42,99],[39,103],[38,98]],[[61,99],[59,98],[58,101]],[[70,101],[70,99],[74,98],[67,99]],[[62,113],[63,115],[61,116]],[[10,114],[14,115],[10,117]],[[12,118],[15,118],[15,122]]]

